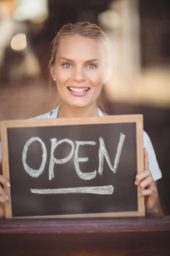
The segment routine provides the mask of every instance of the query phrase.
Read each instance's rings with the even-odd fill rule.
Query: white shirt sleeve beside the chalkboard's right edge
[[[154,180],[159,180],[162,177],[161,170],[159,169],[159,165],[156,159],[156,154],[155,154],[152,142],[150,140],[150,137],[145,131],[143,132],[143,138],[144,138],[144,148],[147,149],[150,172],[152,173]]]

